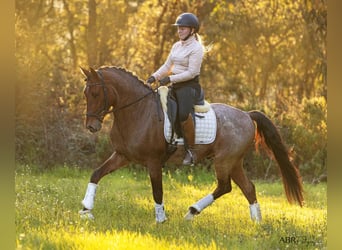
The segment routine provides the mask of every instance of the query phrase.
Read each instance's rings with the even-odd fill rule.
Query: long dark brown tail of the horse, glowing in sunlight
[[[287,200],[303,206],[302,178],[298,168],[290,162],[288,151],[276,126],[259,111],[250,111],[248,114],[257,123],[256,143],[261,142],[263,146],[271,149],[279,164]]]

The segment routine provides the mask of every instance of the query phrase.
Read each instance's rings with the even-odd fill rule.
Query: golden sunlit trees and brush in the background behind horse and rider
[[[211,47],[201,75],[208,101],[263,110],[308,178],[326,172],[326,0],[16,0],[15,8],[19,162],[103,161],[111,117],[98,135],[85,131],[78,67],[121,66],[146,79],[177,40],[171,24],[189,11]],[[265,177],[265,161],[247,164]]]

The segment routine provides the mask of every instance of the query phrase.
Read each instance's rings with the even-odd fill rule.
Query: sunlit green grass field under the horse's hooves
[[[289,205],[280,182],[254,181],[263,221],[233,185],[195,217],[187,208],[216,187],[212,172],[164,170],[168,221],[157,225],[146,171],[122,169],[101,180],[94,221],[79,218],[90,170],[16,171],[17,249],[326,249],[327,186],[304,184],[306,205]],[[290,242],[290,239],[296,242]]]

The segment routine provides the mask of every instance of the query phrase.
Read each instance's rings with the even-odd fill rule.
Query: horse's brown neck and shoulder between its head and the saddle
[[[135,154],[145,151],[151,138],[163,139],[162,125],[157,122],[162,113],[152,89],[130,73],[125,73],[113,73],[110,77],[114,99],[117,100],[113,107],[111,138],[115,150],[134,158]]]

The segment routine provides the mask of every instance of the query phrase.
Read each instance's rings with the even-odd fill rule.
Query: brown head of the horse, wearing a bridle
[[[84,96],[87,102],[86,128],[95,133],[102,127],[106,114],[110,113],[108,89],[100,72],[81,68],[86,78]]]

